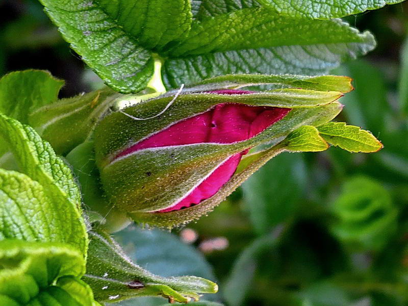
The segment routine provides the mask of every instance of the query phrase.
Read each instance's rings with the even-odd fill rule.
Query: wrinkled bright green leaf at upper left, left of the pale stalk
[[[154,69],[149,50],[182,38],[191,22],[187,0],[41,3],[71,47],[109,86],[121,92],[142,90]]]

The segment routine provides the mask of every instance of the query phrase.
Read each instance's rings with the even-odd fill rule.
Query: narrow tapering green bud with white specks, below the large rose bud
[[[164,296],[175,301],[198,299],[197,293],[215,293],[218,287],[196,276],[161,277],[131,262],[109,236],[90,232],[87,274],[98,301],[119,301],[136,296]]]

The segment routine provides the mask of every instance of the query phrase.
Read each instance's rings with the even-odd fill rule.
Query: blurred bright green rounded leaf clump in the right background
[[[369,177],[348,180],[333,203],[334,233],[345,243],[376,250],[395,232],[397,209],[390,193]]]

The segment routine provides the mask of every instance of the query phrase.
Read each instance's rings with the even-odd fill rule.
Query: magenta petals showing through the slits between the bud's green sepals
[[[218,94],[250,94],[244,90],[215,90]],[[284,118],[291,109],[243,104],[219,104],[209,111],[182,120],[122,151],[117,157],[153,148],[195,143],[229,144],[247,140]],[[234,154],[210,173],[183,199],[158,212],[170,212],[197,205],[213,196],[236,171],[247,150]]]

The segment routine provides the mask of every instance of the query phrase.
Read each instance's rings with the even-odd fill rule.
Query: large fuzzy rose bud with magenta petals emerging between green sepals
[[[254,82],[261,77],[269,82]],[[96,162],[113,205],[152,225],[197,219],[283,151],[279,143],[292,131],[333,119],[342,109],[336,100],[351,89],[342,77],[281,78],[287,88],[265,92],[229,89],[278,83],[251,78],[169,92],[101,120]],[[291,88],[299,85],[307,89]],[[269,149],[243,160],[260,145]]]

